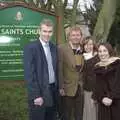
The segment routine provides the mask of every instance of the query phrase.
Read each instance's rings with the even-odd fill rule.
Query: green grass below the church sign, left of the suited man
[[[23,81],[0,81],[0,120],[28,120],[27,107]]]

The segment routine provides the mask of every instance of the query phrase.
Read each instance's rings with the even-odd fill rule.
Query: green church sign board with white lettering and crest
[[[23,48],[38,38],[44,18],[56,22],[53,14],[21,5],[0,9],[0,80],[24,79]]]

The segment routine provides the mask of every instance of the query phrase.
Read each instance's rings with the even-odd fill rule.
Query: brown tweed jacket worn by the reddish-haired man
[[[66,43],[58,47],[59,88],[64,89],[66,96],[75,96],[78,84],[82,85],[83,55],[79,62],[82,67],[76,71],[76,60],[71,46]]]

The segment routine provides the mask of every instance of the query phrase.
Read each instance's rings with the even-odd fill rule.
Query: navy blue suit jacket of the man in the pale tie
[[[57,58],[56,47],[51,42],[49,43],[52,63],[55,75],[57,74]],[[34,105],[34,99],[42,97],[44,105],[42,107],[53,106],[53,98],[49,87],[48,65],[45,57],[44,49],[39,40],[31,42],[24,48],[24,72],[25,80],[28,88],[28,101],[30,108],[30,118],[32,120],[39,120],[41,107]],[[55,81],[57,93],[57,80]]]

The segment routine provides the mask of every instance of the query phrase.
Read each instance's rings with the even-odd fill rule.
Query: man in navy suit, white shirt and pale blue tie
[[[55,120],[56,113],[56,46],[50,42],[54,25],[44,19],[39,39],[24,48],[24,71],[28,88],[30,120]]]

